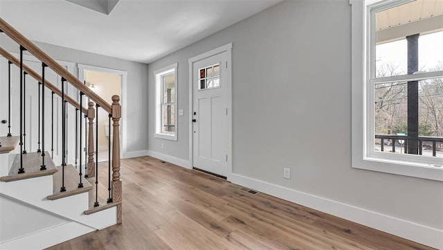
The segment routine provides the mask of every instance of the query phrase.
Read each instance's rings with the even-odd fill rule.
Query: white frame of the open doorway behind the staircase
[[[92,65],[87,65],[87,64],[78,64],[78,79],[81,82],[84,82],[85,76],[86,76],[86,71],[96,71],[96,72],[100,72],[100,73],[111,73],[111,74],[116,74],[116,75],[120,75],[121,76],[121,96],[120,96],[120,103],[122,106],[122,118],[121,118],[121,123],[120,123],[120,127],[121,127],[121,131],[122,131],[122,136],[120,137],[120,145],[121,145],[121,150],[120,150],[120,158],[123,158],[123,156],[126,154],[127,152],[127,125],[126,125],[126,114],[127,114],[127,98],[126,98],[126,93],[127,93],[127,71],[121,71],[119,69],[109,69],[109,68],[103,68],[100,66],[92,66]]]

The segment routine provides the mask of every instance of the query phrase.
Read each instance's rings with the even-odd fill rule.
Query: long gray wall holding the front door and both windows
[[[284,1],[150,64],[148,149],[188,159],[188,59],[232,42],[235,173],[443,229],[440,181],[351,168],[350,10]],[[168,141],[154,138],[154,71],[175,62],[184,115]]]

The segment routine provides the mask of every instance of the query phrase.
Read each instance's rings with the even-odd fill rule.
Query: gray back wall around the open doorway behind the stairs
[[[0,44],[7,51],[19,53],[15,42],[1,37]],[[71,48],[35,42],[45,53],[55,60],[100,66],[127,71],[127,152],[147,149],[147,64],[121,60],[115,57],[78,51]],[[78,77],[78,70],[75,69]],[[121,124],[121,123],[120,123]]]

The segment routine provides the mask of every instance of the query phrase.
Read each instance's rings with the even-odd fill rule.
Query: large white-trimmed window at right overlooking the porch
[[[443,181],[443,1],[351,3],[353,167]]]

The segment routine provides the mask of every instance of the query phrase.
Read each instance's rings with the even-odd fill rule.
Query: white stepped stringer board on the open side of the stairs
[[[117,224],[116,206],[91,215],[84,214],[84,211],[87,211],[89,208],[88,193],[80,193],[62,199],[46,199],[48,195],[53,194],[52,175],[19,181],[0,182],[0,193],[55,213],[68,220],[91,226],[93,229],[100,230]]]

